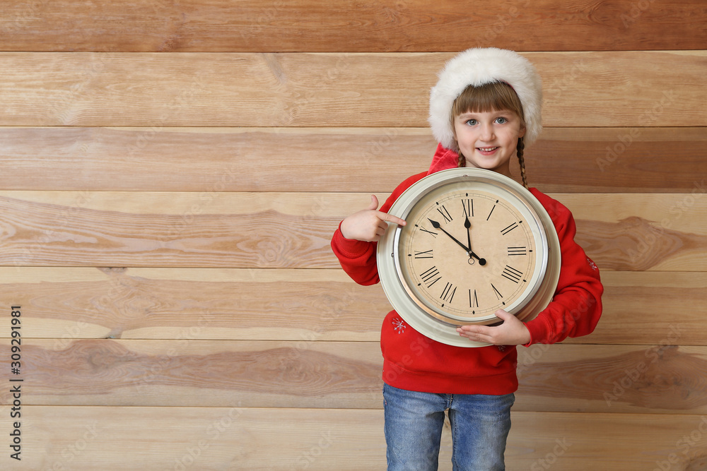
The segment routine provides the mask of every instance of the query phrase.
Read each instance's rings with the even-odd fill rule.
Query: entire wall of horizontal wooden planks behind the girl
[[[537,65],[530,183],[606,286],[520,348],[508,469],[706,469],[702,0],[2,7],[2,469],[385,469],[388,304],[329,238],[428,167],[474,46]]]

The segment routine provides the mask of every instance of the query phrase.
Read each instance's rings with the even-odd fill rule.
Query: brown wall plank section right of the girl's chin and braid
[[[707,175],[705,145],[707,128],[545,128],[525,168],[546,193],[689,193]]]

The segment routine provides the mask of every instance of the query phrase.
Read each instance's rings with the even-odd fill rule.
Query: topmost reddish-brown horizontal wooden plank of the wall
[[[0,44],[6,51],[434,52],[699,49],[707,40],[699,0],[466,6],[460,0],[345,1],[337,8],[320,0],[11,0],[4,2]]]

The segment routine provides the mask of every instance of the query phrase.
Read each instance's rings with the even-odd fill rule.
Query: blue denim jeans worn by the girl
[[[435,394],[383,385],[388,471],[436,471],[445,410],[452,469],[505,470],[503,453],[515,395]]]

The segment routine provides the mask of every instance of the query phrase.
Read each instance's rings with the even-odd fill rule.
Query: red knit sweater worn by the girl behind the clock
[[[400,194],[427,175],[403,181],[380,210],[387,212]],[[574,241],[572,213],[558,201],[530,189],[549,213],[560,239],[562,265],[557,290],[550,304],[525,325],[530,343],[554,343],[592,333],[602,313],[604,288],[599,270]],[[334,232],[332,249],[341,267],[360,285],[377,283],[376,243],[346,239],[341,227]],[[431,340],[390,311],[380,333],[383,381],[395,388],[426,393],[508,394],[518,389],[515,345],[455,347]]]

